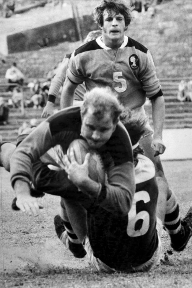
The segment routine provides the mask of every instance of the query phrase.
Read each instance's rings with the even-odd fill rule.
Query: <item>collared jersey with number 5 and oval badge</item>
[[[66,74],[72,83],[85,81],[87,90],[95,86],[109,86],[129,109],[142,106],[146,97],[163,95],[152,55],[147,48],[125,36],[115,56],[101,37],[72,53]]]

